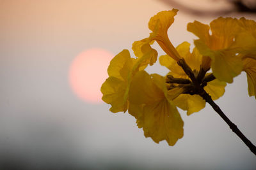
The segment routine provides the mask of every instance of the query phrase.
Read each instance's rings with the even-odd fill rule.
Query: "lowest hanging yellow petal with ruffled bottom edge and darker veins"
[[[158,103],[145,105],[141,125],[145,137],[150,137],[156,143],[166,140],[173,146],[183,136],[183,121],[173,104],[166,99]]]

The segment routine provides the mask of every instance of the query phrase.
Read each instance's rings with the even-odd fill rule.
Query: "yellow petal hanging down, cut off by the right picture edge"
[[[249,96],[256,98],[256,60],[249,57],[243,59],[243,71],[247,74]]]

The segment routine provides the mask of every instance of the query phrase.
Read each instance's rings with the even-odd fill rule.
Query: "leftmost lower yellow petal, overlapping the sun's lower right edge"
[[[103,94],[102,101],[111,104],[109,109],[113,113],[118,111],[127,110],[127,101],[124,99],[125,89],[127,88],[127,83],[116,77],[109,77],[101,87],[101,92]]]

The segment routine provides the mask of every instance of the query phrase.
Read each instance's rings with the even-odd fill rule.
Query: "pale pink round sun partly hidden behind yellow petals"
[[[100,103],[100,87],[108,78],[108,65],[113,54],[100,48],[79,53],[70,64],[68,79],[74,94],[88,103]]]

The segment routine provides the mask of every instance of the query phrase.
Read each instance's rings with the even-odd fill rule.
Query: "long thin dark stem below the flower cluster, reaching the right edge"
[[[229,118],[223,113],[223,111],[221,111],[220,107],[216,103],[214,103],[214,101],[212,100],[212,97],[209,96],[209,94],[207,94],[205,90],[204,90],[204,93],[200,94],[200,96],[203,97],[205,101],[212,106],[212,108],[220,115],[220,117],[223,118],[223,120],[229,125],[230,129],[232,129],[232,131],[235,134],[237,134],[237,136],[240,139],[242,139],[244,144],[248,146],[248,148],[250,148],[252,153],[256,155],[256,146],[253,145],[252,142],[244,136],[244,134],[237,128],[237,125],[235,125],[233,122],[229,120]]]

